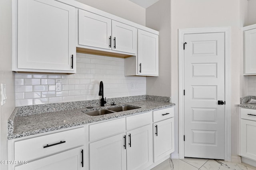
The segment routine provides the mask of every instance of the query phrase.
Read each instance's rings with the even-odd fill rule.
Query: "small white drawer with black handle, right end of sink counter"
[[[168,107],[165,109],[153,111],[153,121],[154,122],[168,119],[170,117],[174,117],[174,107]]]

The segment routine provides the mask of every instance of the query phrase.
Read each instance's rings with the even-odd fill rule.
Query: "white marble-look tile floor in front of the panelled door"
[[[224,160],[184,158],[167,159],[151,170],[256,170],[237,162]]]

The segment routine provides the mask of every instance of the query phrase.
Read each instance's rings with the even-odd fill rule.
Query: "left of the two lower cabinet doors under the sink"
[[[125,144],[125,133],[90,143],[90,170],[125,170]]]

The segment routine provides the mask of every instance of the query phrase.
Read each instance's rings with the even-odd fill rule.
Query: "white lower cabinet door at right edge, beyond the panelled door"
[[[240,120],[240,155],[256,160],[256,121]]]

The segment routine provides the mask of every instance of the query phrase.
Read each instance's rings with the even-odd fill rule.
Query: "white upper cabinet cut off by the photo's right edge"
[[[244,27],[244,75],[256,75],[256,24]]]

